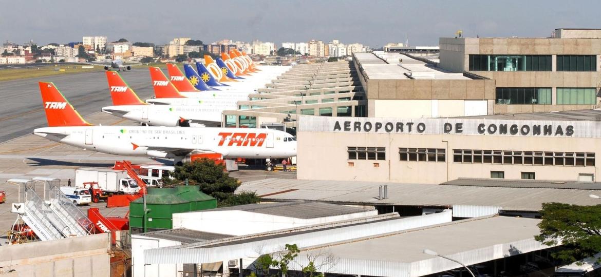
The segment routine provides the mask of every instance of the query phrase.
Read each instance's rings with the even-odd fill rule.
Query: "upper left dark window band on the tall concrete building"
[[[469,71],[551,70],[551,55],[469,55]]]

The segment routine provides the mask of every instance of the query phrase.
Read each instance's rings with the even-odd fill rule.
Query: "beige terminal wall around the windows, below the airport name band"
[[[490,178],[490,171],[504,171],[505,179],[520,179],[521,172],[528,171],[535,172],[537,180],[578,180],[579,173],[596,174],[600,169],[599,162],[587,167],[453,162],[453,149],[594,152],[600,156],[598,139],[588,138],[299,132],[297,139],[298,179],[441,183],[459,177]],[[347,146],[386,147],[386,160],[349,160]],[[446,162],[399,161],[399,147],[446,149]]]

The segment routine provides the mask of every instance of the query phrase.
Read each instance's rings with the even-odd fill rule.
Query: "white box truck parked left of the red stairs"
[[[75,186],[84,188],[84,183],[97,182],[103,193],[135,194],[140,190],[136,180],[129,177],[125,170],[108,168],[78,168],[75,170]]]

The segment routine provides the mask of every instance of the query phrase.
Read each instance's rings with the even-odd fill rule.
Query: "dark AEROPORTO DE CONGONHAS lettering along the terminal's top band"
[[[444,122],[428,130],[425,122],[361,122],[336,121],[333,131],[358,133],[413,133],[413,134],[481,134],[511,136],[567,136],[574,134],[572,125],[554,124],[464,124],[463,122]],[[468,126],[475,130],[468,130]]]

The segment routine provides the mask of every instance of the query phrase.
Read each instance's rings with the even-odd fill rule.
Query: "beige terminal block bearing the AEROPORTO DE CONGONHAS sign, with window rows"
[[[298,179],[594,181],[601,111],[467,118],[302,117]]]

